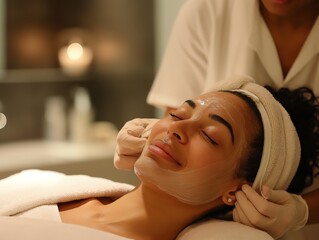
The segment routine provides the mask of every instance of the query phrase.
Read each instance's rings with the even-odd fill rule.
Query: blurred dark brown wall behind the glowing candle
[[[111,121],[120,128],[134,117],[153,116],[153,108],[145,102],[154,77],[153,1],[27,2],[24,7],[17,0],[7,4],[10,70],[0,79],[0,101],[8,124],[0,131],[0,142],[41,138],[45,100],[53,95],[63,96],[69,107],[75,86],[89,90],[97,121]],[[23,12],[22,17],[19,12]],[[14,47],[14,39],[23,33],[23,26],[38,29],[43,42],[51,40],[35,48],[33,55],[39,52],[38,62],[23,62]],[[86,33],[94,59],[85,75],[70,78],[61,73],[56,56],[61,35],[71,28],[81,28]],[[23,43],[24,38],[19,41]],[[14,70],[20,68],[29,70]]]

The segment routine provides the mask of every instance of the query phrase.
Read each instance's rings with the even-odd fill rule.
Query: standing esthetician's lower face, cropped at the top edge
[[[313,11],[318,7],[318,0],[261,0],[261,4],[272,15],[289,17]]]

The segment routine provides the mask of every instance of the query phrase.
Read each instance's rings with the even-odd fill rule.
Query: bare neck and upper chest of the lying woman
[[[210,204],[191,206],[142,184],[106,205],[102,224],[104,230],[128,238],[176,239],[185,227],[220,206],[220,199]]]

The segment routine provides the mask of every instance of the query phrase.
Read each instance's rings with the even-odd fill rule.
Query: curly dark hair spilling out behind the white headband
[[[301,144],[301,159],[288,192],[300,193],[313,183],[313,169],[319,164],[319,97],[307,87],[290,90],[265,86],[289,113]]]

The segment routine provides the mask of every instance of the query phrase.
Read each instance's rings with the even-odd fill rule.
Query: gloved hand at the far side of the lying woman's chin
[[[114,165],[118,169],[132,170],[140,156],[152,127],[154,118],[136,118],[125,123],[116,139]]]

